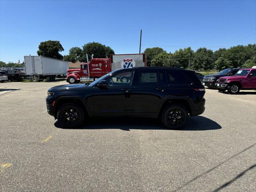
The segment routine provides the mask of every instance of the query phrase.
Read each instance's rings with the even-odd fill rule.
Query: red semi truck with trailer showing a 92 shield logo
[[[88,63],[89,65],[81,63],[78,69],[69,69],[67,82],[70,84],[90,82],[119,68],[144,67],[146,56],[145,54],[115,54],[110,55],[110,58],[93,58]],[[127,78],[120,77],[120,80],[125,82]]]

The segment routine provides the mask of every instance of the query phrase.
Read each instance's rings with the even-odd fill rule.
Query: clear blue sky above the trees
[[[62,55],[93,41],[138,53],[140,29],[142,52],[247,45],[256,42],[256,1],[0,0],[0,60],[22,62],[46,40],[59,40]]]

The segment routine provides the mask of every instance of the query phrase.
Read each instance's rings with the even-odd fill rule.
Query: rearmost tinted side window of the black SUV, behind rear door
[[[194,74],[194,76],[196,77],[195,74]],[[196,79],[198,79],[198,78],[196,77]],[[189,79],[180,70],[169,70],[169,71],[167,71],[167,80],[168,80],[168,84],[170,84],[170,85],[189,85],[189,84],[192,84],[192,80]]]

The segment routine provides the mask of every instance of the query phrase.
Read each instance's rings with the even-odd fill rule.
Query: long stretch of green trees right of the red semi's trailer
[[[190,47],[167,53],[159,47],[146,48],[147,66],[182,67],[199,71],[223,70],[225,68],[251,68],[256,66],[256,44],[238,45],[212,51]]]

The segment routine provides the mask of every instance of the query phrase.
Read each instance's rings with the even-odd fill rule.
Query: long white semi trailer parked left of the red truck
[[[34,76],[36,80],[54,80],[56,75],[65,75],[68,62],[44,56],[24,56],[26,75]]]

